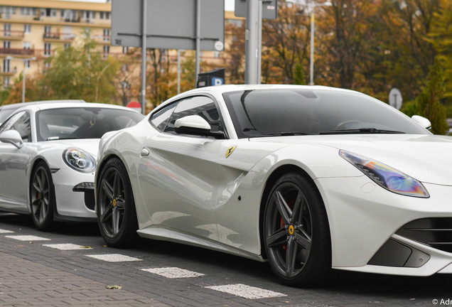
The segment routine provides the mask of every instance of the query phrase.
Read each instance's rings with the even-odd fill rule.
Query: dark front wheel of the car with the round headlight
[[[55,190],[50,170],[43,161],[36,164],[31,175],[30,203],[31,218],[36,228],[41,231],[51,230],[55,224]]]

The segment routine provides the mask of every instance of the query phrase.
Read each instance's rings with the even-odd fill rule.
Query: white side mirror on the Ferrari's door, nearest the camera
[[[189,115],[181,117],[174,123],[174,130],[177,134],[190,134],[195,136],[213,136],[215,139],[225,139],[222,131],[211,131],[210,124],[199,115]]]

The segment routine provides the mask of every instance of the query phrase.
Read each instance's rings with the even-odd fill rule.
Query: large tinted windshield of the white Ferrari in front
[[[239,138],[308,134],[429,134],[409,117],[359,92],[241,90],[223,94]]]

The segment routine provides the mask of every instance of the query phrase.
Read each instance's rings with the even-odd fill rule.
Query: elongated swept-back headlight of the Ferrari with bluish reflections
[[[340,150],[339,154],[362,173],[365,173],[372,181],[391,192],[418,198],[430,197],[429,192],[420,181],[397,171],[395,168],[371,158],[353,154],[350,151]]]

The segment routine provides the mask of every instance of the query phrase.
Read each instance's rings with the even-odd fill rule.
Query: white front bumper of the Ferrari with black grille
[[[444,222],[452,221],[451,186],[424,183],[430,198],[414,198],[384,190],[366,176],[319,178],[316,183],[328,212],[333,268],[413,276],[452,273],[452,225]],[[419,221],[424,230],[415,230]],[[443,230],[435,230],[440,226]]]

